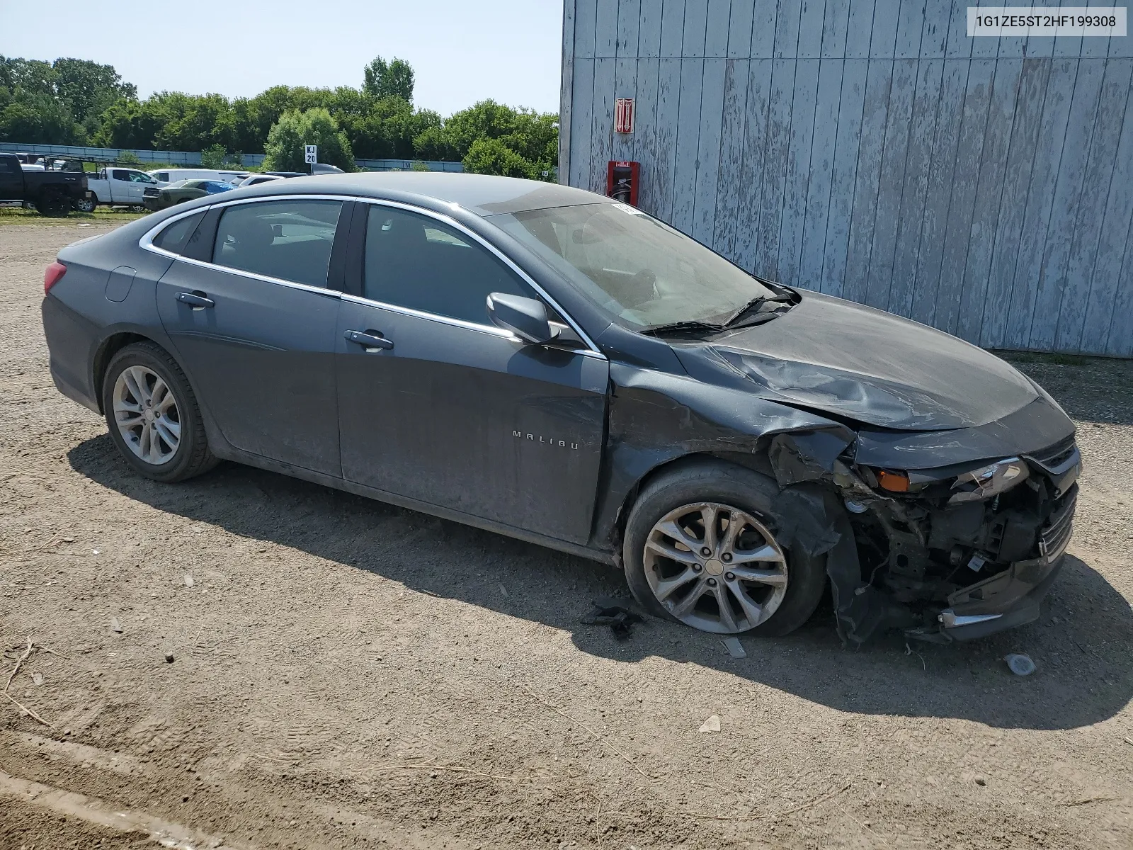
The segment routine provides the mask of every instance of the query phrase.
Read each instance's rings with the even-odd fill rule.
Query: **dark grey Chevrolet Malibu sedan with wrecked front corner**
[[[852,643],[980,637],[1038,617],[1071,536],[1074,425],[1025,375],[580,189],[273,181],[44,287],[57,388],[140,475],[225,458],[620,564],[710,632],[829,587]]]

